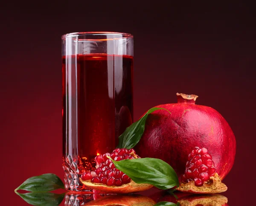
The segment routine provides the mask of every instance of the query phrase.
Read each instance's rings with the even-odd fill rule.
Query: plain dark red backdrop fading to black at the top
[[[157,104],[176,102],[176,92],[197,94],[198,104],[218,110],[237,140],[224,194],[233,206],[251,200],[256,183],[252,5],[37,1],[4,3],[1,9],[1,204],[27,205],[13,190],[28,177],[63,177],[61,35],[82,31],[134,35],[135,119]]]

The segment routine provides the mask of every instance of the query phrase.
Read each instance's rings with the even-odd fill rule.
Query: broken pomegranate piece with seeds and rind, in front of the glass
[[[140,158],[134,149],[125,148],[115,149],[111,154],[100,154],[95,157],[96,170],[83,173],[80,179],[81,183],[91,189],[112,193],[131,193],[152,187],[149,184],[137,184],[132,181],[127,174],[117,169],[108,157],[115,161]]]

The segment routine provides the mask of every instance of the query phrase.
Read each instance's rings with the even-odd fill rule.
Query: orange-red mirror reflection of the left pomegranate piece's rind
[[[139,194],[133,195],[107,195],[98,200],[90,201],[85,206],[152,206],[156,202],[149,197]]]

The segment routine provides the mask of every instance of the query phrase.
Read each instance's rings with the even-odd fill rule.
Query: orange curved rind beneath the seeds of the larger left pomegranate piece
[[[137,184],[134,181],[131,180],[130,183],[123,184],[121,186],[108,186],[101,183],[92,183],[90,180],[82,180],[79,179],[81,183],[84,184],[84,186],[90,188],[90,189],[96,189],[100,191],[106,191],[113,194],[128,194],[133,192],[139,192],[139,191],[145,191],[153,187],[150,184]]]

